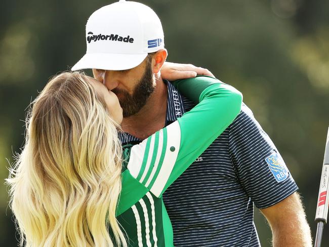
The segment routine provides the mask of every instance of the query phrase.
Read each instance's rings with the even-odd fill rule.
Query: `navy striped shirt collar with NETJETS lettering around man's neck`
[[[166,113],[166,126],[177,120],[185,113],[182,96],[177,89],[170,83],[169,80],[163,79],[163,83],[167,85],[168,98],[167,98],[167,113]],[[125,132],[118,133],[119,140],[122,144],[126,143],[140,143],[142,140]]]

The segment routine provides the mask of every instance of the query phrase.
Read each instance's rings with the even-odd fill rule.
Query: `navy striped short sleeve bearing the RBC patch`
[[[298,189],[277,148],[245,105],[229,127],[229,148],[238,180],[257,208],[270,207]]]

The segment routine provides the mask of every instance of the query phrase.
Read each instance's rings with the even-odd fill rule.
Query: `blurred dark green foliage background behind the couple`
[[[69,69],[85,53],[88,17],[113,2],[2,1],[3,182],[13,154],[20,152],[23,144],[26,107],[50,76]],[[314,237],[329,124],[329,1],[140,2],[153,8],[161,19],[169,61],[209,68],[243,92],[244,102],[276,144],[299,185]],[[7,188],[2,185],[0,189],[0,246],[16,246],[18,236]],[[255,221],[262,246],[270,246],[270,229],[258,210]],[[329,244],[329,226],[324,227],[322,243]]]

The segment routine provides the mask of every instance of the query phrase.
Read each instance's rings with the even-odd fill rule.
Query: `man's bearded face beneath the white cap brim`
[[[139,112],[155,88],[154,74],[148,58],[132,69],[118,71],[93,69],[93,73],[95,79],[116,94],[124,117]]]

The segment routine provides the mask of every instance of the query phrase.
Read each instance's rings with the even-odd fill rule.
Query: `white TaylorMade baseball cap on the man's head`
[[[71,70],[125,70],[165,47],[160,19],[146,5],[120,0],[95,11],[86,25],[86,54]]]

